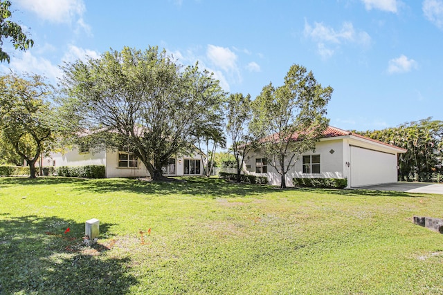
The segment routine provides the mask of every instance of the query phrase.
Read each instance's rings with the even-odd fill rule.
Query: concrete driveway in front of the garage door
[[[426,182],[396,182],[390,184],[371,185],[356,189],[370,189],[373,191],[404,191],[406,193],[437,193],[443,195],[443,184]]]

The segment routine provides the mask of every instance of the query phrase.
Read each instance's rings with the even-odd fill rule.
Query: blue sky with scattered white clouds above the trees
[[[305,66],[334,93],[330,125],[378,130],[443,120],[443,0],[11,0],[35,45],[0,72],[63,79],[60,66],[124,46],[199,62],[253,99]]]

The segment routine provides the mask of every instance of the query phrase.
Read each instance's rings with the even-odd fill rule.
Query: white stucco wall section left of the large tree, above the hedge
[[[43,160],[43,166],[86,166],[86,165],[105,165],[105,151],[89,151],[88,153],[78,153],[74,148],[66,153],[51,153],[48,158]]]

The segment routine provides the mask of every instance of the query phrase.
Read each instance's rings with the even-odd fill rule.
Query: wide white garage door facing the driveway
[[[397,155],[350,146],[351,187],[397,182]]]

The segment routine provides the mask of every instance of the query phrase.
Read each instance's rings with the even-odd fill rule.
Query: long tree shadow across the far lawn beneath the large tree
[[[226,182],[219,178],[190,177],[180,178],[182,182],[149,182],[145,180],[112,178],[112,179],[86,179],[43,177],[35,180],[8,178],[0,180],[0,185],[39,185],[39,184],[72,184],[73,190],[93,191],[95,193],[108,193],[125,191],[140,194],[157,195],[192,195],[207,198],[234,198],[239,196],[254,196],[262,193],[275,192],[269,185],[262,184],[237,184]]]

